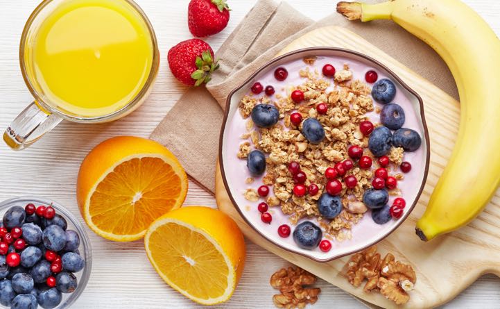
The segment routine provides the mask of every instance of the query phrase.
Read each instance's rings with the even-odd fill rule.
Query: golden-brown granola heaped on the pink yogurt
[[[304,59],[311,64],[315,58]],[[333,167],[337,162],[349,158],[347,149],[350,145],[362,147],[364,156],[370,156],[376,165],[377,160],[368,150],[368,137],[365,137],[359,129],[359,123],[368,120],[367,112],[374,110],[374,104],[370,97],[371,89],[362,81],[354,80],[350,68],[345,65],[338,70],[331,80],[322,77],[317,71],[312,72],[309,67],[300,70],[299,75],[303,78],[302,85],[293,89],[286,89],[291,93],[298,89],[304,93],[304,101],[295,103],[287,95],[275,94],[271,100],[269,97],[255,97],[252,94],[241,99],[239,110],[244,119],[247,119],[247,132],[241,135],[245,140],[237,153],[237,157],[245,159],[253,149],[259,149],[268,153],[266,160],[266,175],[263,178],[265,185],[273,186],[274,196],[268,197],[269,206],[279,206],[284,214],[289,215],[292,224],[296,224],[303,217],[317,217],[320,226],[325,230],[326,237],[338,241],[350,239],[350,228],[352,224],[359,222],[367,208],[361,206],[365,190],[371,187],[373,177],[372,170],[354,167],[345,176],[354,175],[357,185],[347,188],[343,184],[344,210],[335,219],[323,220],[316,206],[318,199],[325,190],[327,178],[325,170]],[[261,103],[273,104],[279,111],[282,122],[278,122],[272,128],[257,128],[254,126],[250,114],[252,109]],[[326,103],[328,110],[325,115],[320,115],[316,110],[319,103]],[[318,119],[325,128],[325,140],[320,144],[312,144],[301,133],[301,126],[291,123],[292,112],[300,112],[303,119],[308,117]],[[388,155],[390,160],[399,165],[403,158],[403,149],[394,148]],[[293,176],[288,172],[289,162],[296,161],[300,164],[302,172],[307,175],[304,185],[311,183],[318,185],[319,191],[316,195],[307,194],[304,197],[296,197],[293,194]],[[402,175],[399,176],[402,178]],[[399,190],[392,190],[390,194],[399,195]],[[245,192],[248,201],[257,201],[255,190],[248,189]]]

